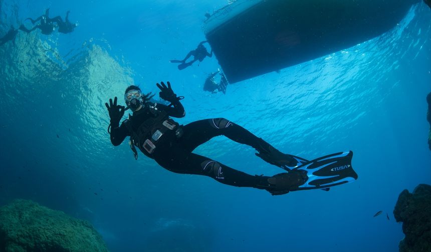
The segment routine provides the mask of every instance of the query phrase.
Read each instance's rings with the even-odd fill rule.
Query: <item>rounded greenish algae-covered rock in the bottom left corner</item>
[[[31,200],[16,199],[0,208],[0,251],[108,251],[87,221]]]

